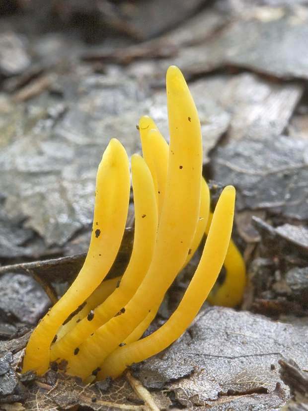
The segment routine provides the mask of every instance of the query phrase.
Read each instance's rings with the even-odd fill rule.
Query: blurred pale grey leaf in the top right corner
[[[237,3],[242,2],[234,2]],[[308,33],[306,10],[303,10],[302,18],[294,7],[294,12],[283,10],[278,18],[262,21],[256,15],[257,10],[254,15],[252,12],[247,16],[245,11],[249,3],[244,4],[238,18],[231,20],[218,36],[204,44],[181,49],[175,60],[176,64],[182,65],[183,73],[196,75],[222,66],[235,66],[278,78],[307,79],[308,64],[303,58]],[[294,5],[294,1],[291,4]],[[260,16],[262,8],[258,11]]]

